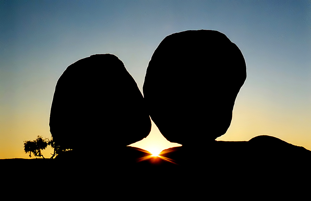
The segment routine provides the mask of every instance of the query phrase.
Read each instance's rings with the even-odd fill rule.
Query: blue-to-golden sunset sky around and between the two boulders
[[[310,0],[0,0],[0,158],[29,158],[24,141],[51,138],[55,85],[70,64],[114,54],[142,91],[159,43],[167,35],[201,29],[224,33],[247,66],[231,125],[217,140],[271,135],[311,150]],[[166,141],[152,123],[149,136],[131,146],[180,145]],[[50,153],[51,148],[43,152],[46,158]]]

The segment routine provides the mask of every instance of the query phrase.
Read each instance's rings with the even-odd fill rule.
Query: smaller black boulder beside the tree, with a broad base
[[[55,87],[49,125],[56,145],[90,155],[135,143],[151,130],[135,80],[111,54],[67,67]]]

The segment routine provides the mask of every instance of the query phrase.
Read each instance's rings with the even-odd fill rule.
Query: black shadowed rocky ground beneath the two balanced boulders
[[[54,191],[46,199],[59,200],[283,197],[284,191],[299,197],[310,187],[311,151],[272,136],[214,141],[196,150],[173,147],[160,157],[150,155],[126,147],[101,158],[1,159],[2,182],[14,189],[47,185]],[[43,177],[48,179],[38,182]]]

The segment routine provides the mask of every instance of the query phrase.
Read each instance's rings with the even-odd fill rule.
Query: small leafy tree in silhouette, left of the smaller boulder
[[[37,137],[34,141],[24,141],[24,150],[26,153],[29,153],[29,157],[31,158],[31,153],[35,155],[35,157],[44,156],[41,154],[41,150],[45,149],[48,146],[49,139],[43,139],[42,136]]]

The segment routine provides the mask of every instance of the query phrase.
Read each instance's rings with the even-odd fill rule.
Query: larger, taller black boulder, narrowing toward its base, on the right
[[[229,128],[245,79],[244,57],[225,34],[188,30],[159,44],[147,68],[143,93],[151,119],[166,139],[204,144]]]

